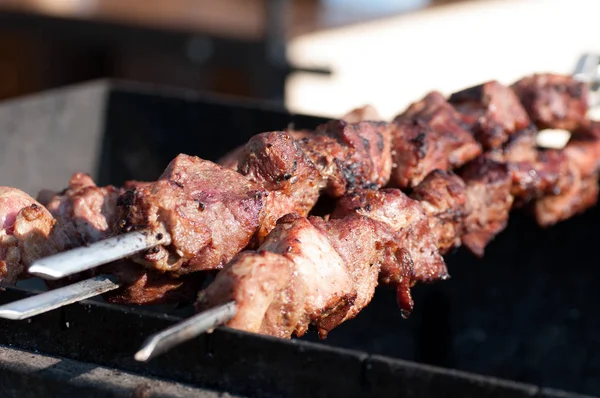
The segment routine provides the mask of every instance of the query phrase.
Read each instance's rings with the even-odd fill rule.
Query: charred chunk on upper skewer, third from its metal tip
[[[299,141],[325,179],[329,195],[384,186],[392,169],[390,125],[331,121]]]

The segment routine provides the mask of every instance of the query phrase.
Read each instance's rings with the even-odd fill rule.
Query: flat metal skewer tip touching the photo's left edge
[[[59,289],[0,306],[0,318],[21,320],[117,289],[109,275],[98,275]]]

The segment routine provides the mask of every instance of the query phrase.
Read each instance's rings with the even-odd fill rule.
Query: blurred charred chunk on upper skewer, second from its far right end
[[[454,93],[449,102],[485,149],[500,147],[531,124],[519,98],[497,81]]]

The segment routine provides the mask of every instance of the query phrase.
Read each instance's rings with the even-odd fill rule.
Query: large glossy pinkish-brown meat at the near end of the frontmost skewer
[[[325,338],[371,301],[380,265],[396,261],[394,239],[387,225],[355,214],[329,221],[287,215],[258,251],[225,266],[197,308],[235,300],[230,327],[289,338],[312,324]]]

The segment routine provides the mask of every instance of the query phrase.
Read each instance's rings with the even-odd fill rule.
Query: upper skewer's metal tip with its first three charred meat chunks
[[[333,121],[300,141],[285,132],[259,134],[241,154],[239,173],[179,155],[159,180],[121,196],[120,230],[130,234],[105,241],[101,258],[86,248],[77,253],[89,259],[83,265],[71,269],[61,254],[31,272],[64,277],[135,252],[142,253],[133,261],[163,272],[220,268],[251,240],[260,242],[279,217],[307,215],[322,190],[339,196],[384,185],[391,168],[387,129]]]

